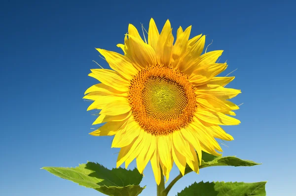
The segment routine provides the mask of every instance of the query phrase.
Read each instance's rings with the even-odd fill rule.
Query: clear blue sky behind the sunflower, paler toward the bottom
[[[257,1],[257,0],[256,0]],[[222,146],[263,163],[254,167],[211,167],[188,174],[171,190],[194,181],[268,181],[267,196],[295,190],[296,13],[291,1],[2,1],[0,6],[0,195],[100,196],[51,175],[42,166],[76,166],[86,161],[115,167],[111,137],[88,133],[95,120],[84,91],[97,83],[91,68],[108,67],[95,48],[117,51],[128,24],[161,29],[170,19],[176,34],[207,35],[210,50],[222,49],[223,74],[238,68],[228,86],[242,90],[234,102],[241,125],[226,127],[234,141]],[[185,3],[185,4],[182,4]],[[135,164],[131,164],[133,168]],[[176,167],[171,180],[178,173]],[[150,164],[143,196],[156,192]],[[295,192],[294,192],[295,193]]]

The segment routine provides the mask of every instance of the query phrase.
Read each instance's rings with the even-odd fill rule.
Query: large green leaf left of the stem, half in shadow
[[[135,168],[107,169],[99,163],[88,162],[77,167],[42,167],[60,178],[95,189],[109,196],[138,196],[145,187],[139,184],[143,175]]]

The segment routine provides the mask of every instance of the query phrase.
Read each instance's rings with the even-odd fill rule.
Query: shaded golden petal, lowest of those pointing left
[[[92,131],[89,134],[94,136],[107,136],[107,135],[114,135],[116,134],[120,129],[122,129],[122,126],[126,124],[127,120],[125,121],[118,121],[118,122],[108,122],[96,131]]]

